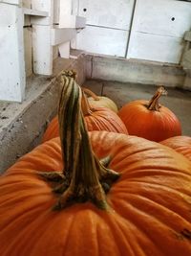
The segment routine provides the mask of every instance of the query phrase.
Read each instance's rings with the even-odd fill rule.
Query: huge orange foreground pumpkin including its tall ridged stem
[[[155,142],[93,131],[94,151],[116,172],[104,168],[73,85],[59,105],[61,145],[40,145],[0,179],[0,255],[191,255],[191,162]]]

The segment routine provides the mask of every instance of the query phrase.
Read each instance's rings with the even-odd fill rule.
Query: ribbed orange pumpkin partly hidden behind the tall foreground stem
[[[92,112],[91,115],[85,116],[84,119],[89,131],[107,130],[128,134],[127,128],[125,128],[125,125],[117,116],[117,114],[106,107],[96,107],[96,111]],[[46,129],[43,135],[43,142],[53,139],[57,136],[59,136],[59,128],[56,116],[53,118],[48,128]]]

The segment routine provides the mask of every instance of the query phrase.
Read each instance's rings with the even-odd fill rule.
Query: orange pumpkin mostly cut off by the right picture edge
[[[185,157],[191,160],[191,137],[175,136],[163,140],[160,143],[182,153]]]

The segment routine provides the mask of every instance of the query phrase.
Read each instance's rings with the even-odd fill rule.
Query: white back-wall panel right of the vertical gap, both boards
[[[179,63],[190,17],[187,2],[137,0],[127,58]]]

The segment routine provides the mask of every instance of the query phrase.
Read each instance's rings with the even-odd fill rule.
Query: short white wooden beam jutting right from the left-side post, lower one
[[[75,29],[52,29],[52,45],[58,45],[70,41],[76,35]]]

